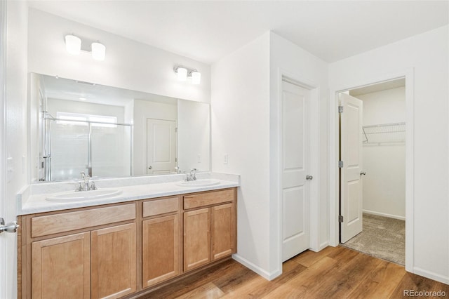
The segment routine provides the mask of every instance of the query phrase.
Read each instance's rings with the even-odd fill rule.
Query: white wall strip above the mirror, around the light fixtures
[[[202,62],[34,8],[29,8],[28,30],[29,72],[210,102],[210,66]],[[88,53],[70,55],[65,51],[66,34],[102,42],[106,46],[106,59],[96,61]],[[175,65],[198,69],[201,84],[177,81]]]

